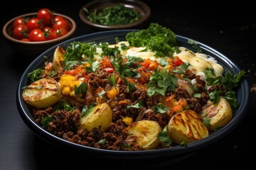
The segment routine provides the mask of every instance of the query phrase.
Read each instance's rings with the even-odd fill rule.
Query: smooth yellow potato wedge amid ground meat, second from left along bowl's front
[[[80,120],[80,128],[92,130],[99,128],[102,132],[107,130],[112,123],[112,110],[107,103],[100,103],[88,115]]]

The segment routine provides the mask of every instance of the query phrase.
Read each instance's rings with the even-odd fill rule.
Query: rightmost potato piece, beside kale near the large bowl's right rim
[[[206,105],[203,106],[201,116],[208,130],[214,131],[224,127],[230,122],[233,118],[233,111],[228,101],[220,97],[220,101],[215,104],[209,100]]]

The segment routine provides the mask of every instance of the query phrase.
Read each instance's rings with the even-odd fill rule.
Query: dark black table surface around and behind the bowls
[[[11,1],[1,4],[9,12],[1,10],[1,28],[6,21],[23,13],[50,8],[58,13],[70,16],[77,23],[75,36],[95,33],[97,30],[85,26],[79,18],[79,10],[87,1]],[[149,23],[159,23],[198,42],[213,47],[244,69],[250,86],[250,105],[240,124],[228,135],[212,145],[194,152],[190,157],[179,162],[156,169],[174,169],[195,167],[198,169],[247,166],[250,155],[254,155],[256,92],[256,20],[255,9],[251,4],[220,3],[197,6],[182,2],[172,5],[159,1],[145,1],[151,8]],[[29,5],[28,5],[29,3]],[[169,2],[170,3],[170,2]],[[33,6],[33,8],[31,8]],[[146,26],[145,26],[146,28]],[[33,58],[24,57],[14,52],[1,34],[0,43],[0,169],[36,170],[36,169],[96,169],[114,167],[125,169],[129,162],[118,164],[114,160],[100,160],[74,155],[42,140],[23,123],[16,107],[16,87],[23,71]],[[96,160],[97,161],[97,160]],[[157,162],[158,160],[156,160]],[[118,168],[117,168],[118,167]],[[136,169],[135,166],[134,168]],[[139,167],[142,168],[142,167]]]

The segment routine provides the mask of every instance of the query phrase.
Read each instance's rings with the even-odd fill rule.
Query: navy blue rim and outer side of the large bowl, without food
[[[119,37],[119,40],[125,40],[125,35],[131,31],[136,30],[107,30],[99,33],[92,33],[89,35],[82,35],[78,38],[73,38],[67,40],[65,42],[61,42],[60,46],[67,47],[70,42],[80,41],[80,42],[110,42],[115,43],[115,38]],[[196,51],[193,48],[193,45],[188,43],[189,38],[177,35],[177,42],[179,46],[187,47],[190,50]],[[241,85],[237,91],[238,95],[238,108],[233,114],[233,119],[226,125],[224,128],[221,128],[217,132],[209,135],[208,137],[198,140],[196,142],[191,142],[188,144],[188,147],[171,147],[166,149],[154,149],[154,150],[146,150],[146,151],[114,151],[107,149],[97,149],[93,147],[87,147],[83,145],[78,145],[72,142],[68,142],[66,140],[61,139],[50,132],[44,130],[40,125],[38,125],[31,114],[31,107],[28,106],[22,99],[22,87],[28,85],[28,77],[27,74],[32,72],[34,69],[38,69],[39,67],[43,68],[45,62],[45,56],[49,59],[52,59],[53,52],[55,48],[58,46],[55,45],[51,47],[49,50],[46,50],[41,55],[39,55],[33,62],[27,67],[25,72],[23,72],[21,79],[18,84],[18,89],[16,92],[16,102],[18,106],[18,111],[21,115],[23,121],[28,125],[28,127],[39,137],[47,142],[50,142],[53,145],[58,147],[62,147],[64,149],[68,149],[72,152],[78,152],[83,155],[96,155],[97,157],[105,157],[105,158],[114,158],[114,159],[133,159],[133,160],[146,160],[146,159],[155,159],[156,157],[161,157],[161,164],[166,164],[166,162],[176,162],[180,159],[189,157],[193,152],[196,152],[198,149],[202,149],[208,145],[213,144],[214,142],[220,140],[221,138],[228,135],[234,128],[236,128],[242,118],[244,118],[247,110],[247,106],[249,104],[249,86],[246,79],[243,79]],[[214,50],[207,45],[204,45],[201,42],[198,42],[198,47],[203,50],[203,53],[214,57],[215,60],[218,61],[224,68],[224,72],[232,72],[234,74],[238,74],[240,72],[239,67],[233,63],[228,57],[225,57],[220,52]],[[142,162],[140,162],[142,163]],[[145,162],[146,163],[146,162]],[[149,161],[147,161],[149,164]],[[153,163],[152,163],[153,164]]]

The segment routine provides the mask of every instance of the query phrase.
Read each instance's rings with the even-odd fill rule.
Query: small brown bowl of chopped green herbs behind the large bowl
[[[150,8],[138,0],[96,0],[80,9],[81,20],[98,30],[139,28],[150,16]]]

